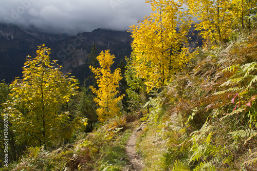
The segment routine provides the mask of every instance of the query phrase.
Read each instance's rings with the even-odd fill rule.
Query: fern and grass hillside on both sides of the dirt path
[[[125,142],[142,122],[144,170],[255,170],[256,38],[252,31],[227,46],[198,49],[185,71],[151,94],[141,120],[125,114],[51,152],[29,148],[9,170],[121,170]]]

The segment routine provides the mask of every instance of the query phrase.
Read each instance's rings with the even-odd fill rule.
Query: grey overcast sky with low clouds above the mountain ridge
[[[0,22],[74,35],[127,30],[152,12],[144,0],[0,0]]]

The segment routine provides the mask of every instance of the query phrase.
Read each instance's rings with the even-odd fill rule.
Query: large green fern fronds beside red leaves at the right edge
[[[249,112],[248,118],[249,118],[249,127],[251,127],[251,123],[256,125],[256,111],[254,108],[251,108],[251,101],[255,100],[255,98],[252,99],[253,95],[256,93],[256,89],[254,87],[254,84],[257,82],[257,63],[247,63],[239,67],[239,65],[236,66],[230,66],[223,70],[225,71],[234,71],[235,68],[237,70],[235,73],[229,78],[228,81],[220,85],[219,87],[224,87],[223,90],[213,93],[213,95],[218,96],[225,93],[236,93],[238,94],[238,103],[235,103],[235,96],[231,102],[235,104],[235,107],[232,112],[230,112],[225,117],[221,118],[223,120],[224,118],[233,116],[236,113],[245,113],[247,111]],[[242,105],[242,103],[243,105]],[[241,106],[241,107],[240,107]],[[250,108],[247,108],[247,107]],[[239,107],[238,109],[236,109]],[[236,110],[235,110],[236,109]]]

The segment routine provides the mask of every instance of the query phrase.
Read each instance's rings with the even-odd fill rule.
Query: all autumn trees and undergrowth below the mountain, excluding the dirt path
[[[0,83],[0,170],[124,170],[140,125],[143,170],[257,169],[256,1],[145,3],[125,67],[94,46],[81,85],[43,44]]]

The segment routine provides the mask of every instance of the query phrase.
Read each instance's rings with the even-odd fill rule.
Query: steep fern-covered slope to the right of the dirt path
[[[137,146],[144,170],[257,169],[256,37],[199,48],[150,100],[151,122]]]

